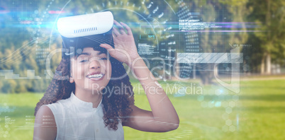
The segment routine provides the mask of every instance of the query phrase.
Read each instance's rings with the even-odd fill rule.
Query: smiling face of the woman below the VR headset
[[[92,90],[98,93],[110,81],[111,62],[105,53],[85,47],[82,53],[77,58],[73,57],[70,62],[71,76],[78,91]]]

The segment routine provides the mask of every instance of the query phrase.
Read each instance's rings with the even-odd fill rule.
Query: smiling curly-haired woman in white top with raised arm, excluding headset
[[[81,37],[77,49],[65,53],[72,56],[57,67],[62,76],[55,76],[35,107],[34,139],[123,139],[123,126],[145,132],[177,129],[177,112],[139,56],[132,31],[125,23],[114,24],[113,41],[108,35]],[[152,111],[134,105],[122,63],[142,84]]]

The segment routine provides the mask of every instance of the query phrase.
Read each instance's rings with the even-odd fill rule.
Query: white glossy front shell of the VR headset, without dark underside
[[[110,11],[69,16],[57,21],[57,30],[63,37],[83,37],[106,33],[113,27]]]

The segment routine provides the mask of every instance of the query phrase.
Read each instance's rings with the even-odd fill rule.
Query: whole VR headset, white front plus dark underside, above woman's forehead
[[[62,58],[77,54],[83,47],[99,47],[113,42],[111,29],[113,14],[110,11],[69,16],[57,21],[57,30],[62,36]]]

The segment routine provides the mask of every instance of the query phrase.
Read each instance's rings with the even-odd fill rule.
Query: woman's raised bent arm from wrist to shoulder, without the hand
[[[133,106],[129,122],[125,125],[146,132],[167,132],[177,129],[179,117],[166,93],[147,69],[143,59],[138,57],[131,66],[133,73],[142,84],[152,111]]]

